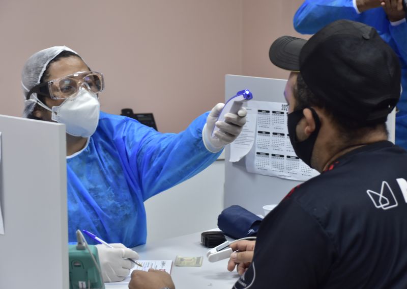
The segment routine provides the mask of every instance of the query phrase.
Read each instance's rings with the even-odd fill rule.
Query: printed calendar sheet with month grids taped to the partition
[[[288,104],[251,100],[248,107],[257,112],[255,142],[246,156],[248,172],[303,181],[319,174],[299,159],[290,143]]]

